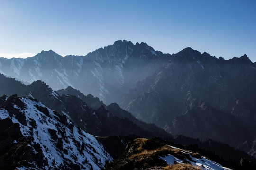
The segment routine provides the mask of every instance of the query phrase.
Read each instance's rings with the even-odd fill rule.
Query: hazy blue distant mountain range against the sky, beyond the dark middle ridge
[[[256,63],[246,55],[224,60],[191,48],[170,55],[119,40],[86,56],[50,50],[0,58],[0,72],[25,84],[42,80],[54,90],[70,86],[116,102],[172,135],[234,147],[256,139]]]

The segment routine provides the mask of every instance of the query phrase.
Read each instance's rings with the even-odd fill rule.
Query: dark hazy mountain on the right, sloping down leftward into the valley
[[[256,137],[256,63],[186,48],[138,81],[120,104],[171,134],[234,147]]]

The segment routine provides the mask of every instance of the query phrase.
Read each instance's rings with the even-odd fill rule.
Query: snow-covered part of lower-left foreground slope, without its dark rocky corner
[[[22,135],[31,138],[30,147],[40,144],[43,159],[47,162],[41,167],[37,162],[31,162],[29,167],[20,164],[17,168],[100,170],[112,160],[95,137],[82,131],[65,113],[57,113],[27,97],[1,99],[5,101],[0,103],[0,118],[10,118],[13,123],[18,123]]]

